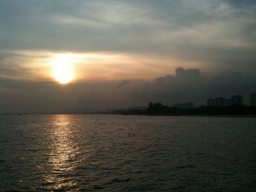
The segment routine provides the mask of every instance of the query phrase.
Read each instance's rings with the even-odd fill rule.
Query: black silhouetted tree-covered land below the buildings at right
[[[199,108],[174,108],[160,102],[148,104],[146,109],[115,110],[124,115],[207,115],[207,116],[251,116],[256,117],[256,107],[233,105],[225,108],[201,106]]]

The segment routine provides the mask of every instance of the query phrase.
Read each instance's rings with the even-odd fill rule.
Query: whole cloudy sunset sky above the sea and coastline
[[[0,0],[0,27],[0,113],[256,91],[253,0]]]

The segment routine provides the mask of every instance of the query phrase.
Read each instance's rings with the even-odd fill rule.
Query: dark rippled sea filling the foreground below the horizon
[[[0,117],[0,191],[256,191],[256,119]]]

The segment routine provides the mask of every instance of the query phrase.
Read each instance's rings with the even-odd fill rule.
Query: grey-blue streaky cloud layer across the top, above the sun
[[[1,49],[161,55],[255,69],[253,1],[3,0]]]

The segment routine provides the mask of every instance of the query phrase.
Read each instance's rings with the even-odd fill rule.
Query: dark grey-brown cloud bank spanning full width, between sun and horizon
[[[168,105],[195,102],[201,105],[214,96],[248,96],[255,91],[255,79],[255,75],[231,70],[207,76],[201,74],[199,69],[182,67],[177,68],[174,75],[159,77],[154,81],[132,80],[130,83],[100,81],[63,86],[49,82],[0,79],[1,112],[86,112],[146,106],[148,102]],[[116,84],[122,84],[122,89],[117,89]]]

